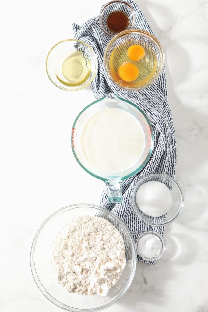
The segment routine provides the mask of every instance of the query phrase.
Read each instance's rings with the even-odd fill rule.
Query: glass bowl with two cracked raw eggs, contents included
[[[129,29],[113,37],[104,52],[108,78],[127,90],[142,90],[162,73],[165,55],[155,36],[141,29]]]

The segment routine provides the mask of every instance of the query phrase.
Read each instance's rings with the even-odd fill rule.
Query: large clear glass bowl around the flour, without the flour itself
[[[118,283],[110,289],[106,297],[68,293],[57,283],[51,268],[51,244],[55,235],[65,223],[83,215],[97,215],[111,222],[120,232],[125,244],[126,267]],[[58,307],[73,312],[101,311],[114,304],[128,290],[136,270],[136,262],[136,246],[125,224],[112,212],[90,204],[70,205],[52,213],[37,231],[30,254],[32,275],[42,294]]]

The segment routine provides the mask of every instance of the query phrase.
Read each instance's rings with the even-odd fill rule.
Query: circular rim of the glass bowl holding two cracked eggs
[[[150,81],[150,82],[147,82],[145,83],[144,85],[142,86],[139,86],[137,88],[130,88],[130,87],[127,87],[127,86],[122,86],[122,85],[119,85],[110,75],[109,73],[109,66],[108,66],[108,62],[107,62],[107,57],[108,57],[108,54],[109,54],[109,50],[110,50],[110,46],[119,38],[119,37],[122,37],[128,33],[131,33],[131,32],[136,32],[144,37],[148,37],[148,39],[150,39],[151,41],[153,41],[154,45],[157,46],[158,50],[160,51],[161,53],[161,62],[160,62],[160,66],[159,66],[159,69],[155,75],[155,77]],[[139,91],[139,90],[143,90],[147,87],[149,87],[150,85],[153,84],[153,82],[155,80],[157,80],[157,78],[161,75],[162,73],[162,70],[164,68],[164,65],[165,65],[165,53],[163,51],[163,48],[162,48],[162,45],[160,43],[160,41],[155,37],[153,36],[150,32],[146,32],[145,30],[142,30],[142,29],[128,29],[128,30],[124,30],[123,32],[119,32],[119,34],[117,34],[116,36],[114,36],[110,41],[109,43],[107,44],[106,48],[105,48],[105,51],[104,51],[104,56],[103,56],[103,63],[104,63],[104,68],[105,68],[105,72],[108,76],[108,78],[115,84],[117,85],[119,88],[121,89],[124,89],[124,90],[129,90],[129,91]]]

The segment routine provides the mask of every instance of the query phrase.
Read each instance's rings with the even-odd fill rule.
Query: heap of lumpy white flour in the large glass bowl
[[[126,266],[119,231],[107,220],[71,220],[53,241],[52,266],[58,283],[80,295],[106,296]]]

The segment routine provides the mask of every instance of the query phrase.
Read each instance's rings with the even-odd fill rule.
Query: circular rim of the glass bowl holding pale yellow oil
[[[49,71],[48,71],[48,58],[51,54],[51,52],[53,51],[53,49],[58,46],[59,44],[63,43],[63,42],[66,42],[66,41],[75,41],[75,42],[80,42],[82,43],[84,46],[87,46],[90,51],[92,52],[93,56],[94,56],[94,60],[95,60],[95,71],[94,73],[92,74],[92,77],[89,79],[89,81],[86,83],[86,84],[82,84],[80,85],[78,88],[76,89],[67,89],[65,87],[61,87],[60,85],[57,85],[56,82],[54,82],[49,74]],[[84,41],[81,41],[79,39],[65,39],[65,40],[62,40],[62,41],[59,41],[58,43],[56,43],[54,46],[52,46],[51,50],[48,52],[47,56],[46,56],[46,72],[47,72],[47,75],[48,75],[48,78],[51,80],[52,84],[55,85],[57,88],[61,89],[61,90],[65,90],[65,91],[78,91],[78,90],[81,90],[81,89],[84,89],[85,87],[87,87],[93,80],[94,80],[94,77],[96,75],[98,71],[98,59],[97,59],[97,56],[96,54],[94,53],[93,49],[91,48],[91,46],[89,46],[87,43],[85,43]]]

